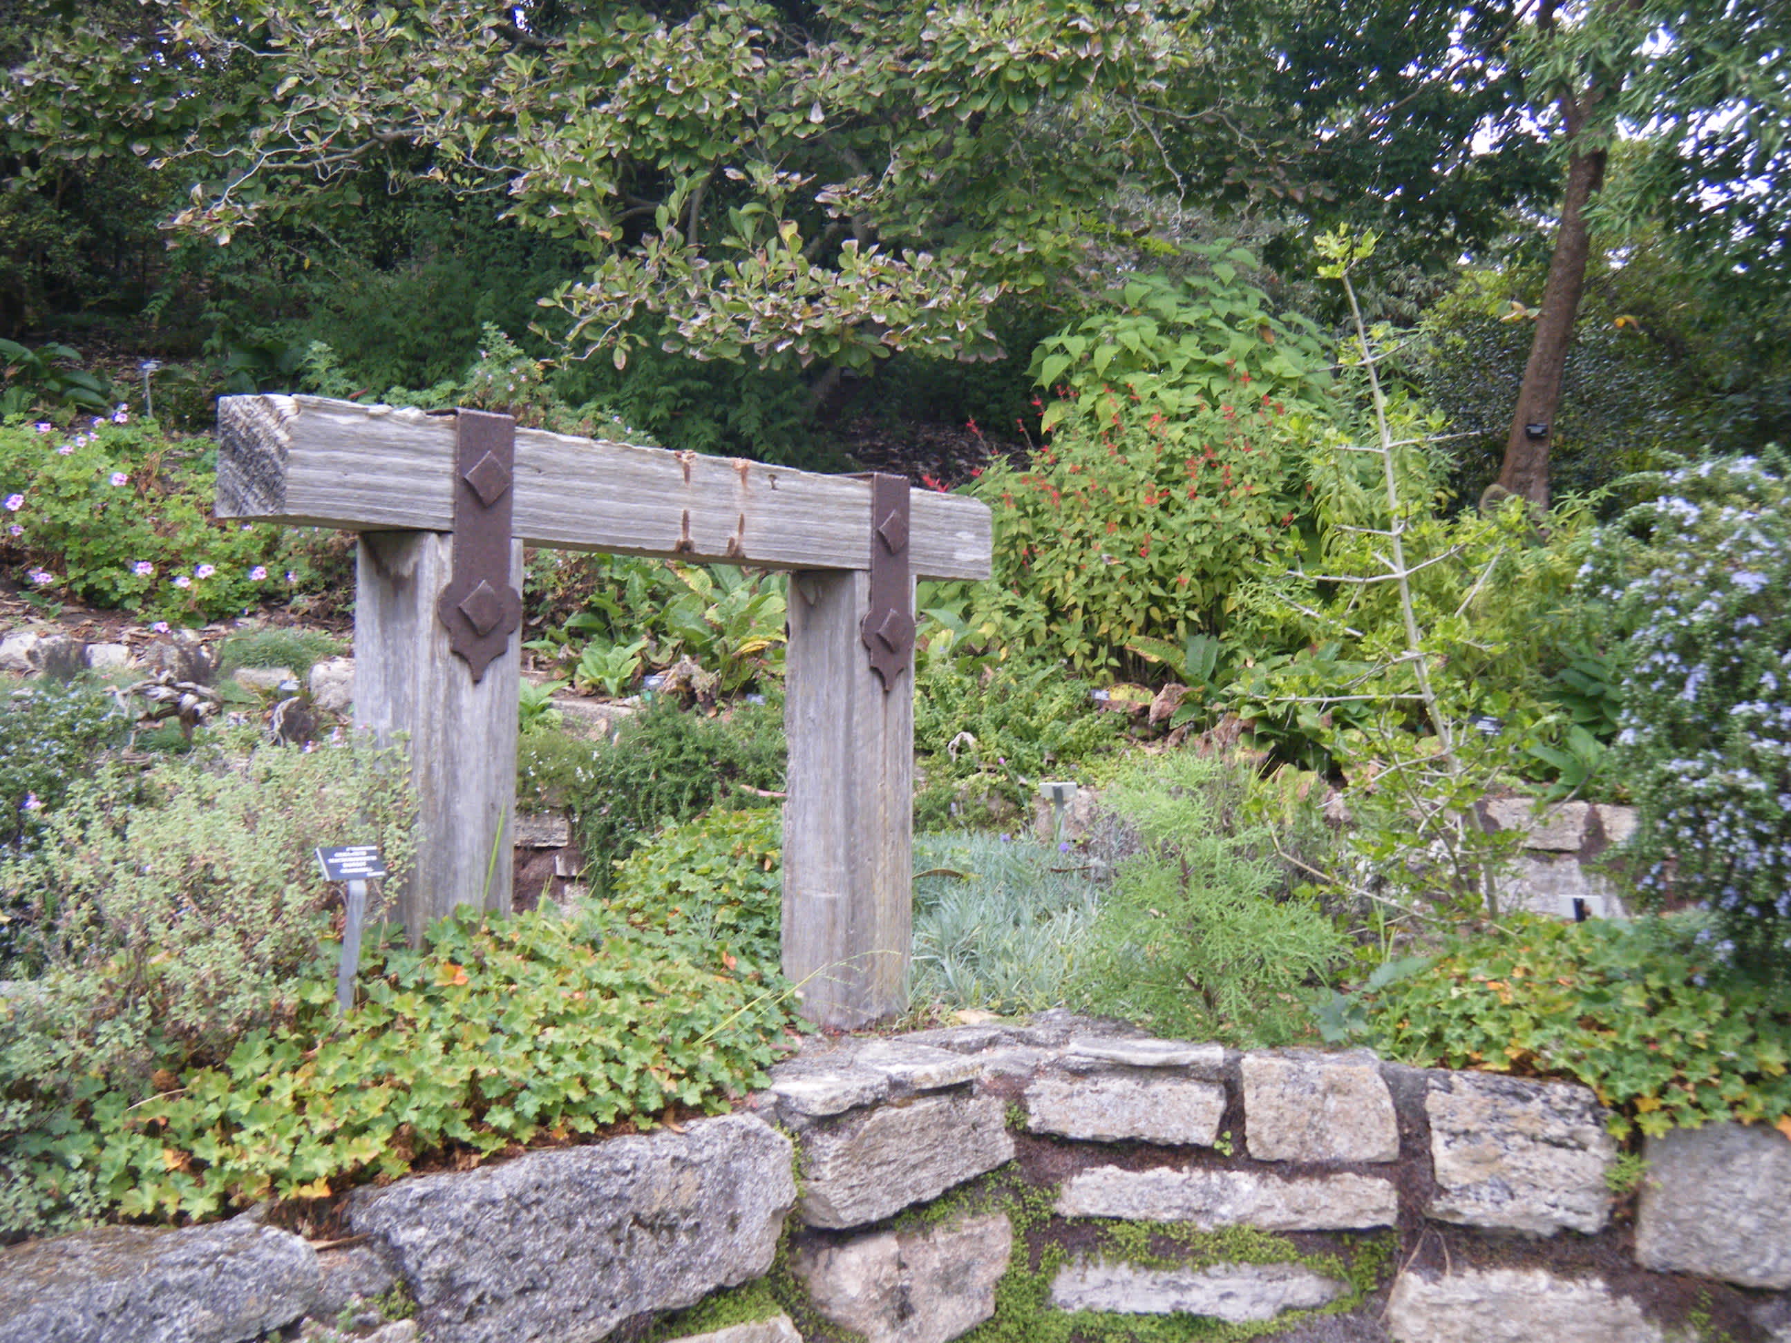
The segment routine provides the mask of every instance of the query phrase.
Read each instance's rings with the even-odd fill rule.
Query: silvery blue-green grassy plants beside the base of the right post
[[[1098,902],[1085,854],[1026,836],[917,836],[913,1005],[1001,1014],[1062,1006]]]

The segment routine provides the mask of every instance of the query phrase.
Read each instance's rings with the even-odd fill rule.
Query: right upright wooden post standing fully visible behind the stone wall
[[[867,573],[795,573],[784,727],[783,969],[799,1010],[863,1026],[908,1006],[913,659],[890,693],[858,637]]]

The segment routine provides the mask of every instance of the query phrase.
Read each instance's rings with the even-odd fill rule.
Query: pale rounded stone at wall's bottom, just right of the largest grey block
[[[1014,1227],[992,1212],[806,1245],[792,1271],[817,1311],[869,1343],[946,1343],[996,1313],[1012,1250]]]

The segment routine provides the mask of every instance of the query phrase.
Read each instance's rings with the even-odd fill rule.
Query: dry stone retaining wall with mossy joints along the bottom
[[[1003,1343],[1028,1313],[1791,1343],[1791,1141],[1650,1141],[1637,1196],[1603,1121],[1578,1085],[1066,1014],[813,1039],[740,1114],[360,1191],[347,1245],[238,1218],[14,1246],[0,1343],[946,1343],[998,1302]],[[371,1309],[394,1287],[412,1320]]]

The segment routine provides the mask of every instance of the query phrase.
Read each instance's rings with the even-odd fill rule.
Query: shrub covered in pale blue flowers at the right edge
[[[1628,632],[1617,766],[1650,901],[1712,911],[1739,969],[1791,969],[1791,482],[1737,457],[1657,478],[1599,568]]]

